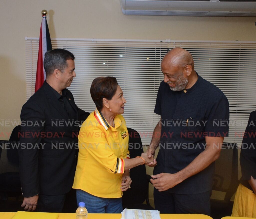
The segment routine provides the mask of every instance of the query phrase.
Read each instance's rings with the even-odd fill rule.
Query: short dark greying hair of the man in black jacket
[[[55,69],[61,72],[68,67],[67,60],[74,60],[75,57],[70,51],[66,49],[53,49],[45,53],[44,68],[46,77],[50,76]]]

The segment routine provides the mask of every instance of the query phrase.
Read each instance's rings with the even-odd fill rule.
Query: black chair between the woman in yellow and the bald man
[[[141,156],[143,145],[140,134],[127,128],[129,133],[130,158]],[[150,176],[146,174],[145,165],[139,165],[130,170],[131,189],[123,192],[123,208],[154,210],[148,200],[148,183]],[[146,204],[143,204],[146,201]]]

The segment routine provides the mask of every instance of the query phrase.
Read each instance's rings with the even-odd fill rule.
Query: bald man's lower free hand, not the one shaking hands
[[[170,189],[182,182],[177,177],[177,174],[171,173],[160,173],[157,175],[152,175],[152,178],[153,179],[151,179],[150,181],[153,186],[158,189],[159,192],[166,191],[167,189]]]

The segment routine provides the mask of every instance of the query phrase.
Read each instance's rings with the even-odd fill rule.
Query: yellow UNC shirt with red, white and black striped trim
[[[102,198],[120,198],[124,160],[130,158],[128,131],[122,115],[110,126],[97,109],[83,122],[78,135],[78,163],[73,189]]]

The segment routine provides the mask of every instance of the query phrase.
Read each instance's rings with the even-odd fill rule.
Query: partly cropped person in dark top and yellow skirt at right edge
[[[251,112],[244,132],[240,164],[242,177],[234,199],[234,217],[256,217],[256,111]]]

